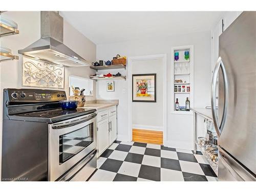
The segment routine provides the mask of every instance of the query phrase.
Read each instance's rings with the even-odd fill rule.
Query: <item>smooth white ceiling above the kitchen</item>
[[[61,11],[60,15],[95,44],[211,30],[221,11]]]

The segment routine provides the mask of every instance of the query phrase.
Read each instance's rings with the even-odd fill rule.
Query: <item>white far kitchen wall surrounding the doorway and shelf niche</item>
[[[194,106],[204,107],[210,104],[210,81],[211,81],[211,33],[210,31],[190,33],[169,37],[145,38],[133,41],[117,42],[114,44],[97,45],[97,59],[109,60],[116,54],[129,56],[154,55],[167,53],[167,105],[168,109],[173,107],[173,102],[170,101],[170,90],[172,84],[170,79],[170,52],[171,47],[194,45],[194,63],[195,63],[195,95]],[[129,63],[127,64],[129,70]],[[120,70],[119,70],[120,71]],[[127,73],[127,72],[125,72]],[[97,88],[97,98],[101,99],[119,99],[118,109],[118,138],[129,140],[127,127],[127,106],[130,101],[127,95],[122,93],[122,90],[127,91],[127,82],[124,80],[116,80],[116,91],[109,94],[102,91],[100,84]],[[118,87],[117,87],[118,86]],[[119,87],[120,86],[120,87]],[[167,143],[168,146],[193,149],[193,116],[170,114],[167,112]],[[184,128],[185,127],[185,128]],[[182,128],[182,129],[181,129]],[[182,131],[181,131],[182,130]]]

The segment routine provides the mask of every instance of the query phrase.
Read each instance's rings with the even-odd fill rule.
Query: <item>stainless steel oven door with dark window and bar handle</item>
[[[49,124],[49,180],[55,181],[96,148],[96,113]]]

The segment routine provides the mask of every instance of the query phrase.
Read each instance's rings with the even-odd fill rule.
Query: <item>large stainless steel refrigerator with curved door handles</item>
[[[256,12],[243,12],[220,35],[219,55],[211,88],[218,179],[256,181]]]

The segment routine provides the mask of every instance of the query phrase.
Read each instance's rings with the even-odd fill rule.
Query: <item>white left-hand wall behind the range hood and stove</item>
[[[40,12],[24,11],[13,12],[8,11],[3,13],[6,17],[14,20],[18,24],[19,34],[1,37],[1,46],[10,48],[13,54],[18,55],[19,49],[32,44],[40,38]],[[96,59],[96,45],[88,38],[83,36],[69,23],[64,21],[63,42],[73,51],[90,62]],[[22,87],[22,55],[18,55],[19,60],[5,61],[0,64],[0,138],[2,138],[2,105],[3,105],[3,89],[4,88],[25,88]],[[95,71],[89,67],[66,68],[65,69],[65,91],[69,93],[69,75],[89,78],[90,74]],[[31,88],[31,87],[29,87]],[[95,83],[94,83],[95,90]],[[87,97],[87,100],[95,99],[94,97]],[[2,145],[2,141],[0,142]],[[2,149],[2,148],[1,148]],[[2,152],[1,152],[2,155]],[[0,156],[1,156],[0,155]],[[2,159],[2,158],[0,158]],[[0,160],[1,161],[1,160]],[[0,162],[1,163],[1,162]],[[0,170],[1,175],[1,170]]]

